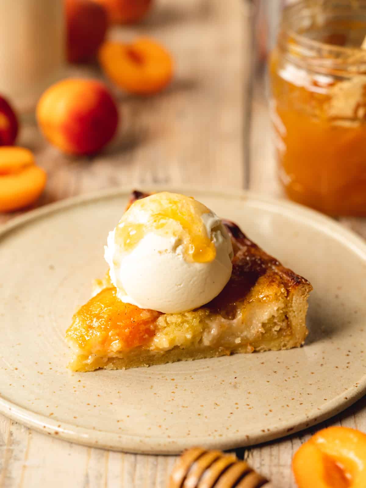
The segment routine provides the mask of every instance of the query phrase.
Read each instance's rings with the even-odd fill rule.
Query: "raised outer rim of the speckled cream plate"
[[[278,199],[263,195],[258,192],[244,189],[227,189],[227,188],[209,188],[203,189],[191,185],[137,185],[144,190],[153,191],[175,191],[181,193],[200,193],[208,196],[217,196],[221,198],[230,198],[232,200],[243,199],[253,200],[261,203],[263,208],[270,207],[273,211],[276,208],[281,213],[294,216],[294,210],[303,222],[311,221],[312,226],[320,228],[322,232],[337,238],[338,241],[347,244],[351,247],[353,252],[356,252],[360,257],[366,260],[366,242],[359,237],[352,230],[344,227],[340,223],[334,221],[332,218],[317,212],[316,210],[307,208],[301,204],[294,203],[285,199]],[[113,189],[99,190],[91,193],[78,195],[67,198],[55,203],[49,203],[41,208],[30,210],[26,214],[14,217],[2,225],[0,228],[0,244],[1,240],[13,229],[21,228],[25,224],[29,224],[39,218],[51,215],[54,212],[62,211],[72,206],[78,206],[84,203],[92,203],[98,200],[114,198],[118,196],[128,196],[133,191],[134,186],[123,185]],[[350,245],[351,244],[351,245]],[[329,419],[337,413],[345,410],[347,407],[359,400],[366,391],[366,375],[362,381],[357,385],[350,386],[347,390],[347,400],[340,404],[339,397],[345,395],[346,392],[340,393],[337,397],[325,404],[325,407],[314,408],[304,415],[303,420],[297,419],[296,422],[282,421],[274,425],[271,432],[259,434],[257,430],[250,432],[246,430],[246,434],[231,434],[223,440],[205,438],[205,447],[214,447],[221,449],[229,449],[236,447],[245,447],[255,445],[263,442],[268,442],[274,439],[280,439],[286,435],[293,434],[303,430],[304,428],[314,426],[320,422]],[[128,433],[116,433],[100,430],[92,430],[86,427],[79,427],[69,423],[63,423],[57,420],[52,420],[44,415],[32,412],[32,410],[20,407],[16,403],[7,400],[0,394],[0,412],[14,421],[20,422],[26,427],[33,428],[39,432],[47,433],[77,444],[86,445],[89,447],[106,448],[117,451],[145,453],[145,454],[176,454],[183,449],[191,447],[194,437],[174,437],[171,439],[166,436],[134,436]],[[314,414],[312,413],[314,412]],[[316,413],[316,415],[315,415]],[[315,416],[314,416],[315,415]],[[110,442],[106,441],[106,437]]]

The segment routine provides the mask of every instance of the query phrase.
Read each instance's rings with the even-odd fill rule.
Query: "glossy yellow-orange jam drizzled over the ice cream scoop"
[[[134,202],[124,213],[116,228],[116,244],[128,252],[147,233],[154,232],[178,238],[186,261],[210,263],[216,257],[216,248],[202,220],[209,212],[191,197],[168,192],[150,195]],[[136,222],[138,219],[142,222]]]

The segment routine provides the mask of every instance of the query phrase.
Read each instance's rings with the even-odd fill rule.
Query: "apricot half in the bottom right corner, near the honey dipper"
[[[299,488],[366,487],[366,434],[348,427],[320,430],[292,460]]]

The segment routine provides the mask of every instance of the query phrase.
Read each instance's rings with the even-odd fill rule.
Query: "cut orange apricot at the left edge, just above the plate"
[[[45,171],[36,166],[31,151],[16,146],[0,147],[0,212],[34,203],[46,180]]]

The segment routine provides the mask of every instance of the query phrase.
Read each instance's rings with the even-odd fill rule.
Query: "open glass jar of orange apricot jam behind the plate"
[[[280,180],[334,216],[366,216],[365,36],[366,0],[301,0],[285,8],[269,62]]]

